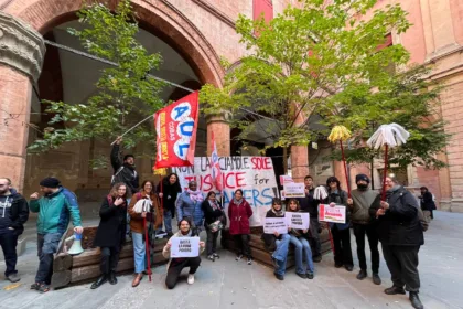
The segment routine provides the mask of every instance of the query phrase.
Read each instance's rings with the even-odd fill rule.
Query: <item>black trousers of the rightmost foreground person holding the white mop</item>
[[[390,246],[381,244],[383,256],[389,268],[394,286],[419,291],[418,251],[420,246]]]

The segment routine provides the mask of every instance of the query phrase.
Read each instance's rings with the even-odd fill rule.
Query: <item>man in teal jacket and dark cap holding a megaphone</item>
[[[39,193],[31,195],[31,211],[39,213],[37,217],[37,252],[39,270],[35,283],[31,289],[41,292],[50,290],[53,275],[53,254],[56,253],[58,243],[73,220],[74,231],[82,234],[80,212],[75,195],[64,190],[56,178],[45,178],[40,182],[40,190],[44,196],[39,199]]]

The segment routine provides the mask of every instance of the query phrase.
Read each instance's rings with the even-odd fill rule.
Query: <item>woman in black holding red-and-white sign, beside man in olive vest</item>
[[[352,257],[351,248],[351,232],[349,232],[349,207],[347,207],[347,192],[341,190],[340,180],[335,177],[330,177],[326,180],[329,196],[325,200],[326,204],[334,207],[341,205],[346,207],[346,223],[330,223],[331,233],[333,234],[334,243],[334,267],[341,268],[344,265],[347,271],[354,269],[354,259]]]

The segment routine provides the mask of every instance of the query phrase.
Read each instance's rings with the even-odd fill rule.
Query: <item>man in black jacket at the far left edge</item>
[[[7,270],[4,277],[11,283],[21,280],[17,270],[18,236],[24,231],[29,219],[29,206],[25,199],[11,188],[8,178],[0,178],[0,245],[3,251]]]

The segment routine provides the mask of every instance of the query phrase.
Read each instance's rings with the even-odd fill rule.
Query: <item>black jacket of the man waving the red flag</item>
[[[119,145],[112,146],[111,166],[115,170],[111,184],[123,182],[130,189],[131,195],[137,193],[140,188],[138,173],[132,166],[125,164],[119,156]]]

